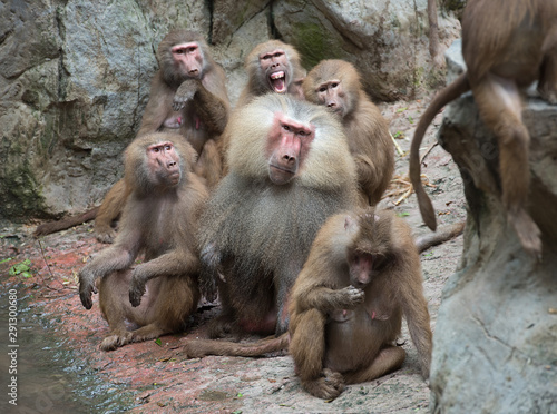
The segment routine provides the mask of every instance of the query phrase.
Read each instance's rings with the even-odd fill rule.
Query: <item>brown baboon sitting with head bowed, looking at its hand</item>
[[[429,377],[431,328],[409,226],[369,208],[331,217],[292,289],[290,347],[303,387],[334,398],[344,384],[400,367],[402,316]]]

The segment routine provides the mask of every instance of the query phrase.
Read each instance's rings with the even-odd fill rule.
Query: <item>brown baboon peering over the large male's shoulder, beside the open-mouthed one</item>
[[[389,124],[368,98],[355,68],[343,60],[323,60],[303,81],[305,98],[325,106],[344,126],[358,167],[362,205],[377,205],[394,171]]]

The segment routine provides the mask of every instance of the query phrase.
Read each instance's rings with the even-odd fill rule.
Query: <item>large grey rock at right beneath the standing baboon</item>
[[[447,56],[449,68],[463,69],[460,42]],[[446,284],[437,319],[433,413],[557,413],[557,106],[529,98],[524,120],[541,262],[522,250],[506,223],[497,142],[473,97],[444,111],[439,141],[459,166],[469,214],[462,262]]]

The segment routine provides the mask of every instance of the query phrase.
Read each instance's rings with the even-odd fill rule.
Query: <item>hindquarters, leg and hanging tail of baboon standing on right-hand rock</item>
[[[524,248],[541,254],[540,230],[527,211],[530,137],[521,120],[521,91],[538,79],[538,91],[557,103],[557,1],[469,0],[462,16],[467,72],[431,102],[416,129],[410,178],[429,228],[436,215],[420,181],[419,148],[436,114],[472,90],[481,119],[497,137],[501,198]]]

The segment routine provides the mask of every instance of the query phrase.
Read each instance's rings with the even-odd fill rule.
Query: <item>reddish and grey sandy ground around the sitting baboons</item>
[[[380,106],[402,150],[402,155],[397,154],[395,178],[400,179],[399,184],[382,205],[394,208],[417,235],[429,230],[422,225],[416,196],[402,197],[408,189],[402,181],[408,174],[410,139],[427,102],[429,98]],[[428,131],[422,152],[434,144],[440,120],[439,115],[433,128]],[[431,184],[428,188],[439,224],[463,220],[466,203],[462,184],[451,157],[439,146],[433,146],[424,162],[427,166],[422,172]],[[110,353],[101,352],[98,345],[108,333],[108,326],[100,317],[98,298],[95,295],[92,309],[86,310],[77,294],[77,273],[89,255],[104,247],[96,241],[92,225],[85,224],[40,240],[30,236],[33,229],[33,226],[7,223],[0,228],[0,260],[9,259],[0,263],[1,306],[8,305],[7,292],[16,289],[21,315],[26,321],[32,319],[33,326],[42,326],[40,335],[56,344],[51,347],[32,343],[22,345],[20,358],[32,359],[33,352],[39,347],[63,357],[56,357],[57,367],[47,369],[50,377],[47,375],[45,381],[37,381],[41,384],[33,383],[35,368],[31,364],[26,375],[19,377],[20,390],[26,390],[26,383],[29,383],[27,395],[25,398],[20,396],[17,408],[4,405],[14,410],[2,410],[4,413],[23,412],[21,408],[27,408],[25,412],[52,413],[123,410],[182,413],[429,412],[429,388],[419,375],[416,349],[405,326],[401,339],[405,342],[403,347],[408,357],[402,368],[377,381],[349,386],[332,402],[315,398],[301,388],[286,354],[265,358],[212,356],[185,359],[180,344],[185,338],[204,335],[205,322],[218,312],[214,306],[199,309],[187,334],[168,335],[158,342],[133,344]],[[421,255],[433,329],[441,290],[457,268],[461,250],[460,236]],[[30,277],[9,275],[13,265],[26,259],[30,260]],[[18,341],[23,341],[26,331],[22,327],[19,334]],[[7,335],[2,334],[2,349],[6,349],[7,339]],[[0,358],[2,361],[6,358]],[[23,364],[21,359],[20,364]],[[8,368],[2,366],[1,369],[0,374]],[[49,388],[55,385],[61,392]],[[3,394],[0,397],[2,403]]]

